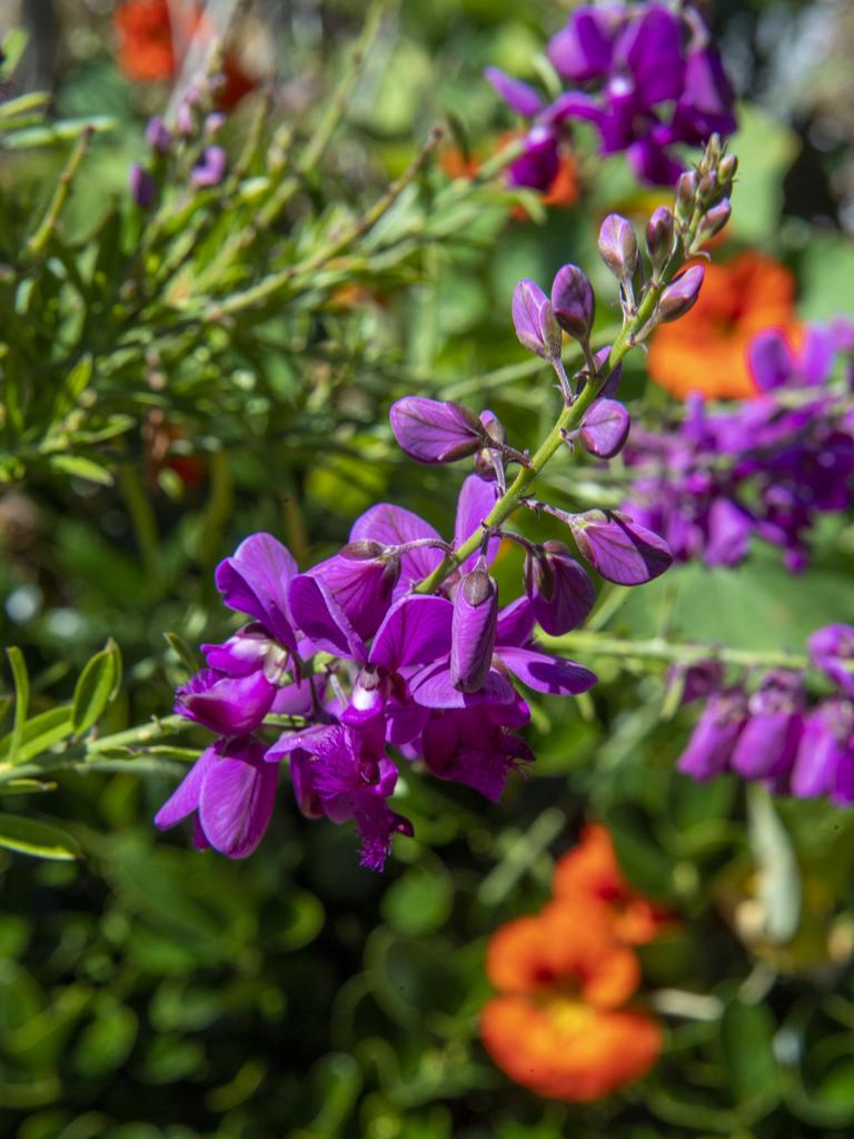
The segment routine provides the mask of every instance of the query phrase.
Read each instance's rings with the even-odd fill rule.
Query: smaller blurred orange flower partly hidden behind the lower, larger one
[[[552,893],[576,906],[602,906],[621,941],[641,945],[652,941],[673,915],[632,890],[619,870],[614,843],[605,827],[591,823],[581,842],[555,868]]]

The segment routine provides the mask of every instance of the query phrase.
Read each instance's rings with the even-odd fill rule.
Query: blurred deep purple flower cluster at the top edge
[[[684,169],[675,146],[736,129],[721,57],[690,6],[675,13],[659,3],[584,5],[552,36],[548,55],[566,84],[551,104],[527,83],[486,71],[512,110],[532,121],[510,167],[515,186],[549,187],[570,120],[592,123],[602,154],[625,151],[637,175],[659,186],[675,185]]]

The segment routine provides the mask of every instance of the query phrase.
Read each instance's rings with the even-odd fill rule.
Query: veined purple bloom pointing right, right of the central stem
[[[567,515],[583,557],[606,581],[640,585],[663,574],[673,563],[667,543],[624,514],[588,510]]]

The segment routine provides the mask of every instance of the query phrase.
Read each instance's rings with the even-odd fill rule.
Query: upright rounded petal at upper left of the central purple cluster
[[[272,534],[251,534],[219,564],[214,581],[230,609],[255,617],[277,640],[295,650],[287,591],[297,572],[296,562]]]

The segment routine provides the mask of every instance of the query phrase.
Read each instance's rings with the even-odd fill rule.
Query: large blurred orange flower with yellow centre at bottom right
[[[510,1079],[537,1095],[599,1099],[658,1058],[658,1024],[621,1008],[640,968],[601,910],[553,904],[511,921],[490,941],[486,970],[500,995],[481,1015],[484,1046]]]

